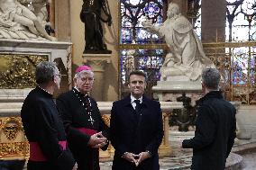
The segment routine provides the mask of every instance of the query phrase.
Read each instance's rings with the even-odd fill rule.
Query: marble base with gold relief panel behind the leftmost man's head
[[[71,86],[70,42],[0,40],[0,100],[23,100],[36,85],[34,70],[41,61],[55,61],[61,76],[61,91]]]

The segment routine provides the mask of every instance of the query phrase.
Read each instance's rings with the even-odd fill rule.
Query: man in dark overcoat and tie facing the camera
[[[110,121],[114,146],[113,170],[159,170],[158,148],[163,138],[160,103],[143,95],[146,76],[133,71],[131,94],[113,103]]]

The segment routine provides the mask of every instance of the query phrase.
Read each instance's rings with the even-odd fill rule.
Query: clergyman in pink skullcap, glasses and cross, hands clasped
[[[78,67],[74,76],[75,86],[57,98],[59,114],[78,170],[99,170],[98,148],[105,150],[108,146],[108,127],[102,120],[96,101],[88,95],[93,83],[91,68]]]

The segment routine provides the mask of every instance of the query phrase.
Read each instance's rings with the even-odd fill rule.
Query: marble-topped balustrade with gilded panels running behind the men
[[[106,124],[110,123],[112,102],[98,102],[98,107]],[[20,117],[22,102],[0,103],[0,159],[25,159],[29,157],[29,146],[24,136],[23,124]],[[169,114],[173,109],[182,109],[180,102],[160,102],[163,112],[164,138],[160,145],[160,156],[171,152],[169,146]],[[106,151],[100,152],[101,160],[110,160],[114,148],[110,145]]]

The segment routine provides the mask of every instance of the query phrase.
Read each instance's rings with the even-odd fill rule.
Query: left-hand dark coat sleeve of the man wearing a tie
[[[127,151],[127,148],[123,145],[122,142],[120,142],[119,139],[119,123],[116,118],[116,106],[115,103],[113,103],[112,110],[111,110],[111,119],[110,119],[110,141],[112,146],[115,149],[115,153],[117,154],[117,157],[122,157],[124,152]]]

